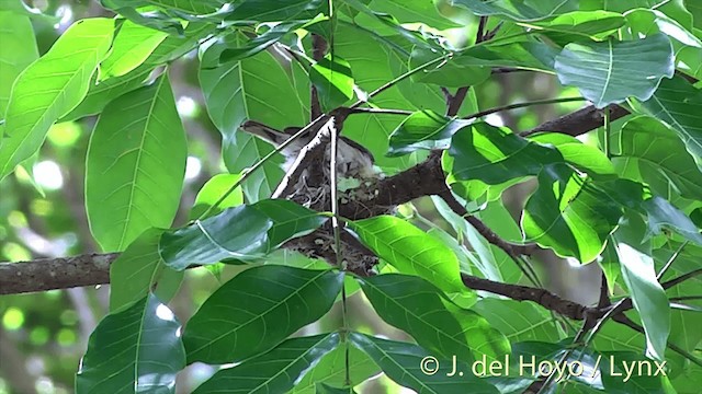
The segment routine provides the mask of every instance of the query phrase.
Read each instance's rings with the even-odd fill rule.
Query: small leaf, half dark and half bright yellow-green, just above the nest
[[[309,69],[322,112],[329,113],[353,97],[351,65],[339,56],[325,56]]]

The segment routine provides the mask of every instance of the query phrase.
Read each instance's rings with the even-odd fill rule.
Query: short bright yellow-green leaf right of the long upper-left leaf
[[[100,63],[100,81],[136,69],[166,37],[163,32],[125,21],[112,43],[110,56]]]

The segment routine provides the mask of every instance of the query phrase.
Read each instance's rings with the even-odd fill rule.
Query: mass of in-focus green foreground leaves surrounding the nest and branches
[[[77,393],[174,393],[176,374],[195,362],[216,371],[195,393],[352,393],[380,372],[418,393],[699,390],[691,376],[699,381],[702,368],[702,12],[694,1],[101,5],[116,16],[78,20],[37,50],[36,26],[49,16],[19,0],[0,4],[0,213],[11,210],[2,207],[11,187],[33,182],[56,136],[92,121],[84,161],[58,161],[84,167],[79,211],[90,242],[122,253],[110,273],[111,312],[76,371]],[[318,39],[326,56],[316,54]],[[222,150],[207,158],[215,174],[188,197],[197,138],[174,81],[179,61],[194,54],[199,68],[189,72]],[[495,105],[495,81],[508,73],[557,80],[558,96]],[[603,126],[520,132],[489,117],[575,101],[589,101]],[[285,251],[338,212],[272,199],[282,157],[239,131],[247,119],[303,127],[315,106],[358,109],[340,130],[387,176],[428,152],[443,154],[460,209],[428,200],[438,212],[431,222],[419,204],[400,201],[390,215],[338,218],[380,257],[377,275]],[[625,109],[622,120],[615,108]],[[528,125],[521,131],[536,126]],[[501,198],[516,185],[533,186],[517,209],[519,225]],[[9,218],[7,229],[16,222]],[[0,258],[27,259],[8,246],[18,242],[5,227]],[[535,258],[510,245],[600,265],[601,298],[614,305],[568,315],[540,302]],[[237,275],[223,279],[234,265]],[[169,301],[191,268],[222,282],[194,314],[177,318]],[[408,337],[350,323],[353,293]],[[339,304],[343,317],[330,320]],[[520,357],[576,370],[540,379]],[[512,373],[480,375],[480,362]],[[654,367],[624,380],[622,366],[632,362],[665,363],[665,373]]]

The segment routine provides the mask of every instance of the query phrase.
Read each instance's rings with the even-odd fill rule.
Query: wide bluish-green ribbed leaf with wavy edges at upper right
[[[663,34],[646,38],[604,43],[571,43],[556,57],[558,80],[578,88],[598,108],[631,96],[646,101],[660,80],[671,78],[675,56]]]

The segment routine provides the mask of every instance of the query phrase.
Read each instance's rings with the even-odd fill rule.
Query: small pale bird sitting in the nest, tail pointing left
[[[283,131],[256,120],[247,120],[241,125],[241,130],[259,137],[264,141],[280,147],[293,135],[302,130],[301,127],[286,127]],[[295,162],[302,149],[307,146],[317,135],[319,128],[310,128],[309,131],[297,138],[290,146],[281,151],[285,157],[283,170],[287,172]],[[347,178],[377,178],[378,171],[374,166],[373,154],[360,143],[341,136],[337,147],[337,175]]]

